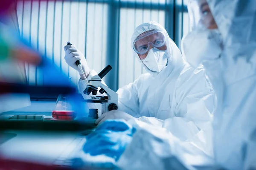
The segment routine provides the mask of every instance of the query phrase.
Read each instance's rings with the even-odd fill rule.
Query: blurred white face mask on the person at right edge
[[[197,68],[204,60],[218,59],[222,37],[218,29],[192,31],[181,40],[181,52],[186,61]]]

